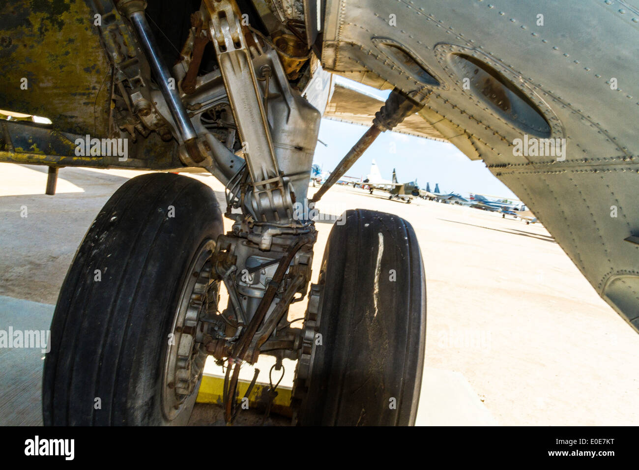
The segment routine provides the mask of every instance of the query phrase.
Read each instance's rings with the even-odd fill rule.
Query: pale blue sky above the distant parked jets
[[[342,77],[339,77],[339,81],[348,82],[348,86],[381,99],[389,94],[389,91],[374,90]],[[364,132],[366,127],[360,125],[323,119],[319,127],[319,139],[328,146],[318,143],[313,162],[319,164],[322,171],[332,171]],[[399,182],[417,178],[419,187],[424,189],[429,182],[431,190],[438,183],[440,191],[458,192],[465,197],[468,192],[515,197],[510,189],[488,171],[484,162],[471,161],[449,143],[383,132],[346,175],[366,178],[373,160],[380,168],[383,178],[390,179],[393,168],[396,168]]]

